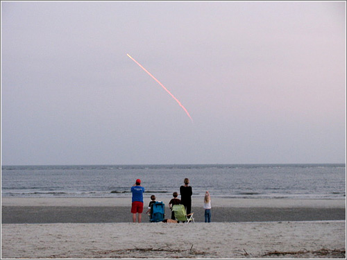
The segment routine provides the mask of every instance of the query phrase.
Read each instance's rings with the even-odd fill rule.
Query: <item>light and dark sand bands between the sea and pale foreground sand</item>
[[[3,198],[1,223],[128,223],[130,198]],[[193,205],[198,201],[193,200]],[[126,206],[128,205],[128,206]],[[214,207],[214,205],[217,205]],[[221,207],[220,205],[224,205]],[[144,212],[146,211],[146,205]],[[202,207],[192,207],[204,222]],[[165,217],[171,212],[165,209]],[[231,200],[212,203],[213,222],[345,220],[344,200]],[[142,222],[149,222],[142,214]]]

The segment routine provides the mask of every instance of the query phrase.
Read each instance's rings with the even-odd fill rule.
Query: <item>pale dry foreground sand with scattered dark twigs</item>
[[[1,254],[82,259],[345,258],[345,230],[344,221],[5,224]],[[295,254],[266,255],[276,251]]]

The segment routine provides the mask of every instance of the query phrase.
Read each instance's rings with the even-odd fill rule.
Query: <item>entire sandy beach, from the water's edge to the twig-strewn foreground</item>
[[[189,224],[148,223],[146,216],[144,223],[130,223],[128,202],[129,198],[2,198],[1,257],[344,259],[346,255],[345,200],[219,198],[212,204],[213,223],[203,223],[201,207],[194,207],[200,202],[196,199],[196,223]]]

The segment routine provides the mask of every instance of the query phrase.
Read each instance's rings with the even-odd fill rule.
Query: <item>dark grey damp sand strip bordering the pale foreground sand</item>
[[[146,209],[145,209],[146,210]],[[201,207],[193,207],[196,222],[204,221]],[[169,209],[165,217],[170,218]],[[1,223],[128,223],[130,207],[2,207]],[[345,220],[344,209],[214,207],[212,222]],[[142,214],[142,222],[149,222]]]

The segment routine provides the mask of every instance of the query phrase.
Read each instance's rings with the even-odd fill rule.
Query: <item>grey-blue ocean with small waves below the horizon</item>
[[[137,178],[157,200],[189,178],[193,197],[345,199],[346,164],[2,166],[2,197],[130,197]]]

